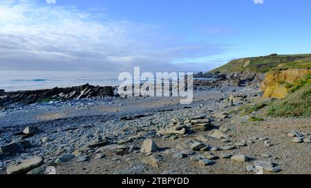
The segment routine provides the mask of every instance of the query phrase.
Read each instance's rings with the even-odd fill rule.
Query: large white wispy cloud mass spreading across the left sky
[[[166,70],[178,68],[169,63],[175,59],[224,50],[171,39],[157,29],[35,0],[0,1],[0,70]]]

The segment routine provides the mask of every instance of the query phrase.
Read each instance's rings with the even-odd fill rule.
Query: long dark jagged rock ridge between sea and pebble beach
[[[77,87],[59,88],[51,90],[33,90],[19,92],[0,92],[0,109],[12,104],[32,104],[46,100],[68,100],[80,98],[104,98],[113,96],[114,87],[81,85]]]

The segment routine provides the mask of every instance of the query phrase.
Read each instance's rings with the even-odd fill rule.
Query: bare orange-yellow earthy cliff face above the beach
[[[303,79],[311,74],[311,69],[288,69],[267,72],[261,83],[261,90],[265,98],[285,98],[288,95],[288,84]]]

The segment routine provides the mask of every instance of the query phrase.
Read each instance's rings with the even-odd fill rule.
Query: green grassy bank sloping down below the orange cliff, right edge
[[[311,85],[301,81],[301,85],[293,86],[292,93],[280,101],[274,101],[268,109],[270,116],[310,117],[311,116]],[[305,83],[305,84],[303,84]],[[295,85],[295,84],[294,84]],[[301,88],[300,90],[297,88]]]

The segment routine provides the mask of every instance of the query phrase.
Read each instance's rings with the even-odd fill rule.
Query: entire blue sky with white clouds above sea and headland
[[[305,0],[0,0],[0,70],[208,71],[311,50]]]

